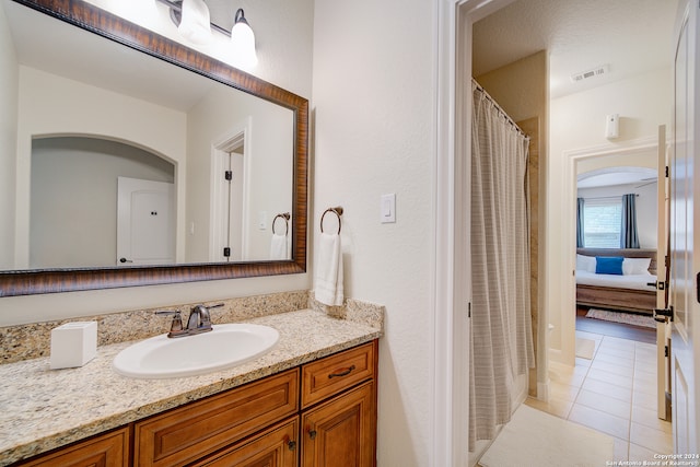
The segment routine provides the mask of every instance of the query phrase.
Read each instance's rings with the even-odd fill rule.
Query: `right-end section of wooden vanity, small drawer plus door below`
[[[302,466],[376,464],[375,377],[376,341],[302,366]]]

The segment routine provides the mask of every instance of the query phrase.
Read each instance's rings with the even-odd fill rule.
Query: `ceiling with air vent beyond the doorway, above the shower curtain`
[[[678,0],[516,0],[474,25],[475,77],[549,51],[550,97],[670,67]],[[573,83],[574,73],[609,72]]]

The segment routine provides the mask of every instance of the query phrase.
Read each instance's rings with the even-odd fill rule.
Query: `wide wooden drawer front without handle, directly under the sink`
[[[179,466],[299,409],[299,371],[249,383],[136,424],[136,465]]]

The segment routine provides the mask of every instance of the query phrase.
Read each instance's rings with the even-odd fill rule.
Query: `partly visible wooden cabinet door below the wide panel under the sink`
[[[295,467],[298,453],[299,417],[294,417],[192,467]]]

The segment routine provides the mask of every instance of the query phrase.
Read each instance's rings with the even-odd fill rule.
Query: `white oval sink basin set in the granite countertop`
[[[268,326],[235,323],[213,325],[195,336],[152,337],[127,347],[115,357],[114,370],[138,378],[194,376],[229,369],[271,350],[279,332]]]

